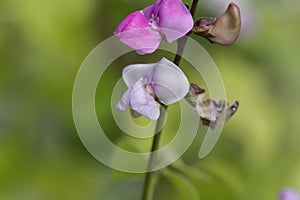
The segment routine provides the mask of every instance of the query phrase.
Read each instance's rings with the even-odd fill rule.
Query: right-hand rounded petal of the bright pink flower
[[[159,0],[155,6],[161,32],[168,42],[177,40],[193,28],[191,13],[181,0]]]

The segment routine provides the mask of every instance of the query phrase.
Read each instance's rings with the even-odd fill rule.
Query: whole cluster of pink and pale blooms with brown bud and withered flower
[[[237,5],[229,4],[217,18],[200,18],[194,23],[187,6],[181,0],[157,0],[138,10],[120,23],[114,34],[121,42],[139,54],[153,53],[161,41],[171,43],[193,32],[209,41],[230,45],[240,32],[240,12]],[[203,124],[214,128],[228,120],[237,110],[238,102],[204,99],[200,87],[191,85],[180,68],[162,58],[157,63],[133,64],[124,68],[123,80],[128,86],[117,109],[132,110],[135,117],[159,118],[158,104],[170,105],[185,98],[198,112]],[[204,92],[204,91],[203,91]]]

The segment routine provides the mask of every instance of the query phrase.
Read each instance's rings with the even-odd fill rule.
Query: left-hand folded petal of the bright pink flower
[[[114,32],[121,42],[135,49],[140,54],[154,52],[162,40],[159,32],[153,30],[143,11],[128,15]]]

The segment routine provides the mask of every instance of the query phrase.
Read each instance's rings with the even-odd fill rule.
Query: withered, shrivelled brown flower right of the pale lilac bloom
[[[237,111],[239,102],[230,105],[225,100],[215,101],[204,97],[205,90],[191,83],[185,100],[197,111],[202,124],[214,129],[217,125],[229,120]]]

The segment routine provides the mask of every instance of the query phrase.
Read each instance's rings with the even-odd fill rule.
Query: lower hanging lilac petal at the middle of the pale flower
[[[151,120],[157,120],[160,114],[156,101],[147,93],[141,80],[132,87],[130,107]]]

